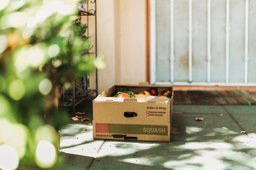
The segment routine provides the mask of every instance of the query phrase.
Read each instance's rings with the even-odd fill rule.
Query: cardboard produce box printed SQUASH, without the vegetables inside
[[[171,90],[171,99],[111,97],[119,88],[134,93],[152,87]],[[114,85],[93,101],[94,139],[169,142],[171,134],[173,90],[170,85]]]

